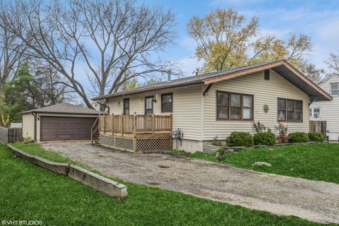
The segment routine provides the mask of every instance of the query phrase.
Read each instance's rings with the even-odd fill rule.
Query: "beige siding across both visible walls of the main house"
[[[263,79],[263,72],[233,78],[229,81],[215,83],[208,96],[203,97],[207,85],[194,85],[177,90],[162,90],[125,97],[109,98],[110,114],[123,112],[124,98],[130,99],[130,114],[145,114],[144,98],[158,94],[159,100],[154,103],[155,114],[161,113],[161,93],[173,93],[173,129],[180,128],[184,139],[195,141],[210,141],[214,136],[225,139],[232,131],[248,131],[254,133],[254,121],[217,121],[215,118],[216,90],[254,95],[254,120],[268,126],[278,133],[275,126],[277,121],[278,97],[303,101],[303,121],[284,122],[289,126],[288,132],[309,131],[309,96],[292,85],[274,71],[270,71],[270,80]],[[269,112],[263,112],[267,104]]]

